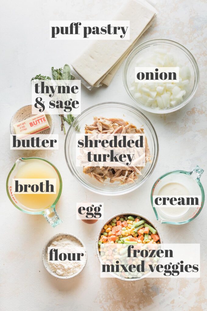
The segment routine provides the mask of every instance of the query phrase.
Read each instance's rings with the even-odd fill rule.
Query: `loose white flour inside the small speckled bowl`
[[[71,236],[59,236],[49,247],[54,248],[71,248],[83,246],[76,238]],[[84,249],[84,248],[83,248]],[[84,252],[83,252],[84,253]],[[51,271],[56,272],[59,276],[71,276],[82,270],[85,260],[81,261],[54,261],[48,262]]]

